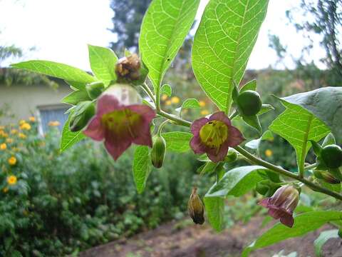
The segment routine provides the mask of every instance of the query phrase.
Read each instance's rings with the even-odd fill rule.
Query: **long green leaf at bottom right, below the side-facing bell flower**
[[[338,221],[341,218],[342,213],[339,211],[310,211],[296,216],[292,228],[276,223],[274,227],[263,233],[257,241],[247,246],[242,253],[242,257],[249,256],[249,253],[255,249],[271,246],[288,238],[303,236],[310,231],[320,228],[329,221]]]

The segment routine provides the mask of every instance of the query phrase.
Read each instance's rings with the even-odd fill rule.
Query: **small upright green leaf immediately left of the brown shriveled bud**
[[[116,81],[115,64],[118,57],[112,49],[88,45],[90,67],[96,78],[108,86],[110,81]]]

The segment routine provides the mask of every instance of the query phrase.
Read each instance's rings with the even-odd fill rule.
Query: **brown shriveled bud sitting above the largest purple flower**
[[[115,66],[115,73],[120,81],[135,81],[140,78],[140,59],[137,54],[123,57]]]

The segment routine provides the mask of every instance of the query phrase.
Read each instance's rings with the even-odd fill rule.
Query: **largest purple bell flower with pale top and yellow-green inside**
[[[115,160],[132,143],[152,147],[150,122],[155,111],[141,102],[133,87],[110,86],[99,97],[96,114],[83,133],[96,141],[104,140],[105,148]]]

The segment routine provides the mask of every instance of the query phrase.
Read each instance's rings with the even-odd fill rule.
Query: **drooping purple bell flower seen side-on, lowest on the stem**
[[[299,191],[291,185],[281,186],[273,196],[264,198],[259,204],[269,209],[269,216],[292,228],[294,209],[299,202]]]

